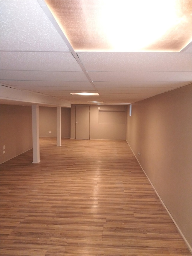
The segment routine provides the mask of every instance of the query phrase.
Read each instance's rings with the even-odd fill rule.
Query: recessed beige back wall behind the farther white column
[[[57,136],[57,108],[39,107],[39,136]],[[70,138],[70,108],[61,108],[61,137]]]

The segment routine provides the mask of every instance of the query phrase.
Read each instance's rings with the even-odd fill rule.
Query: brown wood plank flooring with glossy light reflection
[[[125,141],[41,138],[0,165],[0,255],[191,255]]]

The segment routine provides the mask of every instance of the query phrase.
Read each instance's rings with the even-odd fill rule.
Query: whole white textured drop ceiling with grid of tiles
[[[57,6],[71,8],[71,30],[79,37],[73,13],[76,2],[55,1]],[[79,49],[83,41],[78,49],[73,46],[43,0],[1,0],[0,9],[0,85],[71,104],[103,101],[118,105],[192,83],[191,43],[180,52],[121,52],[121,45],[118,52],[85,51]],[[81,22],[81,26],[86,31],[86,24]],[[70,95],[76,92],[98,92],[99,96]]]

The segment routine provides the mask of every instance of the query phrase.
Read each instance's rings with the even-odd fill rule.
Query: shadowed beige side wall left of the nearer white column
[[[0,105],[0,164],[31,148],[31,106]]]

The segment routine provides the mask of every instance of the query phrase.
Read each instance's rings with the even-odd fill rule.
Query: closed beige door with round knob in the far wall
[[[75,107],[75,139],[89,139],[89,106]]]

